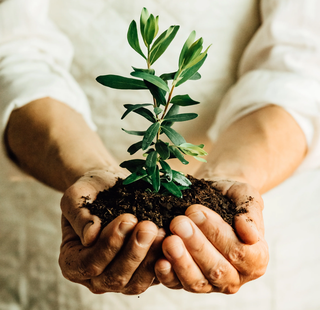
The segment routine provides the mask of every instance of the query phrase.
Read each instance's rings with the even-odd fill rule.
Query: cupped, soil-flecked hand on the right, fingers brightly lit
[[[247,212],[235,217],[235,231],[202,205],[192,205],[185,216],[173,219],[173,235],[162,245],[165,258],[155,266],[158,280],[169,288],[233,294],[265,273],[269,255],[259,192],[234,181],[217,181],[213,187]]]

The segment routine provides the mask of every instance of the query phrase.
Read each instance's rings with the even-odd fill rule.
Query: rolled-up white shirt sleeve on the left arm
[[[51,97],[81,113],[94,130],[84,92],[69,73],[73,48],[48,18],[48,0],[0,1],[0,115]]]

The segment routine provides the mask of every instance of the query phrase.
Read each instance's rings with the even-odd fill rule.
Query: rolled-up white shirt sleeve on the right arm
[[[299,170],[320,167],[320,2],[262,0],[262,25],[247,46],[239,79],[221,102],[209,136],[269,104],[288,111],[308,142]]]

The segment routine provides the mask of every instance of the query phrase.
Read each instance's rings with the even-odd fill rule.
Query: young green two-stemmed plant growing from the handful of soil
[[[200,156],[208,154],[203,150],[203,144],[193,145],[187,143],[178,132],[172,129],[172,125],[175,122],[192,120],[198,116],[196,113],[178,114],[180,106],[191,106],[200,102],[192,100],[189,95],[172,97],[172,92],[175,87],[187,80],[201,78],[198,70],[203,65],[210,46],[202,52],[203,39],[200,38],[195,41],[196,32],[192,31],[180,53],[178,70],[156,76],[155,70],[151,68],[151,65],[165,52],[179,30],[179,26],[170,26],[152,44],[159,30],[158,20],[159,16],[155,18],[152,14],[149,15],[146,8],[142,9],[140,32],[147,47],[147,56],[140,48],[136,22],[132,20],[129,26],[127,39],[130,46],[147,61],[148,68],[146,69],[132,67],[134,71],[130,75],[138,79],[106,75],[98,76],[96,80],[102,85],[116,89],[148,89],[153,97],[152,104],[124,105],[127,110],[121,119],[130,112],[135,112],[145,117],[152,124],[146,131],[129,131],[122,128],[128,134],[143,136],[141,141],[132,144],[128,148],[128,152],[133,155],[142,149],[145,151],[143,156],[146,157],[145,160],[132,159],[120,164],[120,167],[126,168],[132,173],[124,179],[123,184],[143,179],[153,186],[155,192],[164,187],[163,194],[172,193],[181,198],[181,190],[188,189],[191,182],[182,172],[172,170],[166,160],[178,158],[182,163],[188,164],[188,161],[184,159],[184,154],[186,154],[199,161],[206,162]],[[172,80],[171,89],[168,87],[169,80]],[[167,93],[168,97],[166,99]],[[170,104],[171,107],[169,109]],[[147,106],[152,106],[153,111],[147,109]],[[173,144],[159,139],[161,134],[165,134]],[[152,147],[150,148],[150,146]],[[159,168],[158,164],[160,164],[161,168]]]

